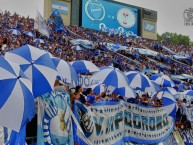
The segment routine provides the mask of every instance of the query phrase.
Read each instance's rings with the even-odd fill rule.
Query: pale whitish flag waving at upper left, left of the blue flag
[[[46,25],[44,18],[41,16],[41,14],[38,10],[36,12],[34,29],[38,30],[41,34],[43,34],[49,38],[50,33],[49,33],[48,26]]]

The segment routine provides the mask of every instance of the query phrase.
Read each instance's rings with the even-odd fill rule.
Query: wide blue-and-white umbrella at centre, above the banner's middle
[[[127,77],[123,72],[117,68],[107,68],[95,73],[91,80],[99,80],[101,83],[107,86],[113,86],[115,88],[121,88],[128,86]]]

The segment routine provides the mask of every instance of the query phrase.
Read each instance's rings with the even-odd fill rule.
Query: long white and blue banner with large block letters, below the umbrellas
[[[163,108],[140,107],[124,101],[90,107],[76,102],[74,114],[93,145],[119,145],[128,141],[155,144],[173,131],[173,120]]]

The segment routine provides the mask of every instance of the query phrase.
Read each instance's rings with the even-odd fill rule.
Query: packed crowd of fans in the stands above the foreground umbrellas
[[[90,30],[79,26],[68,26],[65,27],[64,32],[55,32],[54,25],[49,21],[47,22],[47,25],[50,30],[50,38],[47,38],[42,36],[38,31],[34,30],[34,19],[21,17],[18,14],[11,15],[11,13],[7,11],[0,14],[0,22],[1,54],[22,45],[30,44],[49,51],[54,56],[61,57],[66,61],[85,59],[93,61],[97,66],[108,66],[114,64],[122,71],[152,69],[161,70],[166,74],[192,73],[191,67],[179,64],[165,57],[164,54],[166,53],[162,49],[158,50],[160,55],[156,57],[155,60],[164,63],[167,67],[158,65],[157,61],[152,61],[151,59],[142,57],[137,51],[132,51],[130,53],[126,51],[118,52],[126,56],[122,57],[122,55],[108,51],[106,45],[106,42],[112,42],[114,44],[119,43],[128,47],[146,46],[148,49],[152,49],[155,44],[159,44],[157,41],[142,39],[140,37],[125,38],[124,36],[108,35],[108,33]],[[8,31],[11,28],[18,29],[22,35],[16,36],[10,34]],[[28,30],[33,31],[36,38],[43,39],[45,43],[40,44],[33,42],[34,39],[32,37],[23,34]],[[72,44],[69,40],[75,38],[93,41],[95,49],[79,52],[72,50]],[[169,44],[167,44],[167,46],[168,45]],[[181,48],[181,46],[179,47]],[[189,47],[183,47],[182,50],[190,50],[189,52],[192,53],[192,50]],[[131,59],[135,60],[135,62],[131,61]]]

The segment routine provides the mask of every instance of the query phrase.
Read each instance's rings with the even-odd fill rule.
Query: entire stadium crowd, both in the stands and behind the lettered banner
[[[108,33],[86,29],[80,26],[67,26],[63,32],[55,32],[54,25],[47,21],[48,28],[50,30],[50,38],[42,36],[38,31],[34,30],[34,19],[25,18],[18,14],[11,15],[6,11],[0,13],[0,53],[3,56],[5,52],[13,50],[14,48],[21,47],[25,44],[36,46],[40,49],[49,51],[52,55],[60,57],[68,62],[75,60],[89,60],[96,64],[98,67],[114,65],[120,70],[127,72],[131,70],[157,70],[159,73],[166,75],[170,74],[189,74],[193,75],[192,60],[193,49],[190,46],[176,46],[166,42],[158,42],[154,40],[143,39],[140,37],[127,37],[118,35],[109,35]],[[12,35],[8,31],[10,29],[19,30],[22,35]],[[34,32],[36,38],[44,40],[44,43],[35,43],[33,37],[24,35],[25,31],[31,30]],[[94,43],[95,49],[84,49],[83,51],[76,51],[71,49],[73,44],[70,42],[72,39],[86,39]],[[127,46],[128,48],[144,48],[151,49],[158,52],[156,57],[146,57],[135,49],[128,49],[126,51],[111,51],[107,48],[107,42],[114,44],[120,44]],[[171,54],[163,49],[162,46],[166,46],[175,53],[188,53],[191,55],[190,62],[185,64],[174,60]],[[159,63],[158,63],[159,62]],[[111,97],[107,97],[104,92],[101,95],[94,95],[91,89],[83,92],[87,96],[87,100],[82,97],[82,88],[77,86],[74,92],[71,92],[72,100],[80,99],[81,102],[86,105],[90,105],[94,102],[101,100],[120,100],[121,96],[111,94]],[[131,103],[160,107],[162,106],[162,100],[150,99],[148,94],[139,95],[134,99],[127,100]],[[177,100],[178,101],[178,100]],[[178,111],[177,124],[186,124],[186,117],[183,114],[183,106],[186,104],[186,100],[178,101],[180,113]],[[191,106],[192,102],[188,105]],[[187,105],[186,105],[187,106]],[[180,114],[180,115],[179,115]],[[181,123],[179,123],[181,122]],[[183,128],[183,126],[182,126]]]

